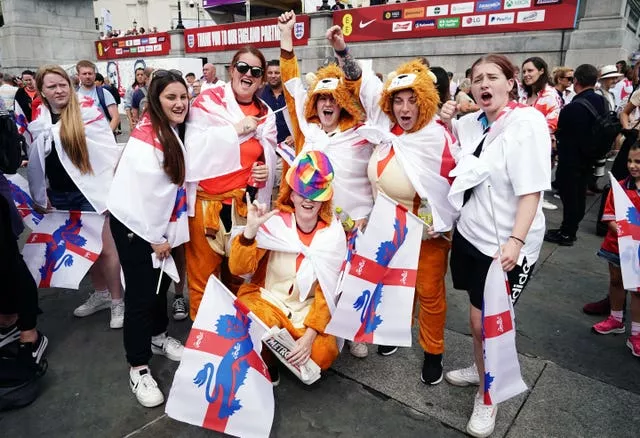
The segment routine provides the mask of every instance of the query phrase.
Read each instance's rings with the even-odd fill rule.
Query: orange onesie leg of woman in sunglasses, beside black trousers
[[[215,252],[204,235],[202,201],[197,199],[196,215],[189,218],[189,242],[185,243],[187,284],[189,286],[189,316],[196,319],[204,289],[211,274],[220,277],[223,257]]]

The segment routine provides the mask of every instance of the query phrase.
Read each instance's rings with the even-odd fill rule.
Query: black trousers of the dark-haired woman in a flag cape
[[[153,268],[151,245],[113,215],[110,221],[126,282],[123,336],[127,361],[132,367],[147,365],[153,354],[151,337],[167,331],[169,324],[167,290],[171,279],[162,276],[156,295],[160,270]]]

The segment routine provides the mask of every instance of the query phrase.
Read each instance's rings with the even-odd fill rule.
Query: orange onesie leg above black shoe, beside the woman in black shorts
[[[444,325],[447,300],[444,276],[450,242],[445,239],[424,240],[420,246],[420,259],[416,279],[416,297],[419,303],[418,322],[420,345],[431,354],[444,352]]]

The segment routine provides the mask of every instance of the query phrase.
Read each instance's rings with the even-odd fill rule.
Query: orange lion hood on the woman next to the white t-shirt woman
[[[393,96],[398,91],[413,90],[418,103],[418,121],[407,132],[416,132],[424,128],[438,112],[440,97],[435,85],[435,75],[419,60],[406,62],[395,71],[389,73],[380,96],[380,108],[391,119],[398,123],[393,114]]]

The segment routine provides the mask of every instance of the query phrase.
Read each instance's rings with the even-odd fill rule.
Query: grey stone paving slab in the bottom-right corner
[[[507,437],[637,437],[638,406],[636,394],[549,363]]]

